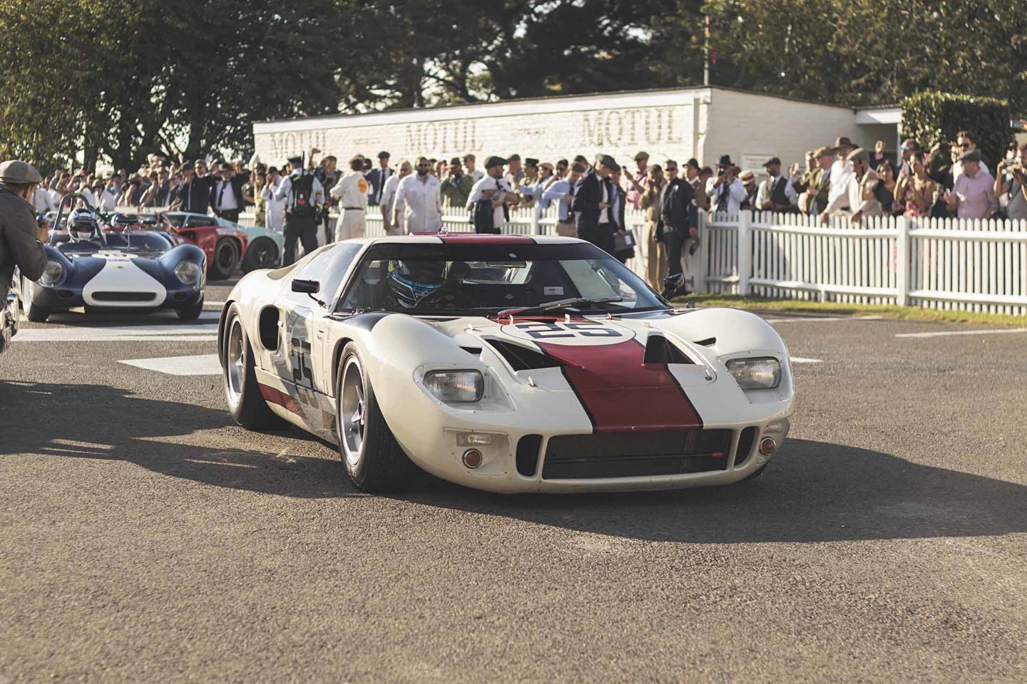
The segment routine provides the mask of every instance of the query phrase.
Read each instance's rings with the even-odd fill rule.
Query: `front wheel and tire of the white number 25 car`
[[[342,350],[335,396],[339,454],[353,484],[368,493],[396,491],[409,485],[417,467],[385,423],[354,343]]]

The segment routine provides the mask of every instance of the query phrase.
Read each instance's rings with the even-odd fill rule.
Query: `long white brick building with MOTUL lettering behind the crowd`
[[[341,162],[384,150],[392,166],[420,155],[471,153],[481,164],[489,155],[556,161],[605,153],[634,168],[631,160],[644,150],[654,163],[695,157],[712,166],[730,155],[743,168],[760,171],[774,156],[786,167],[802,163],[806,151],[839,135],[873,149],[881,129],[861,131],[860,123],[847,107],[694,87],[266,121],[254,124],[254,137],[257,154],[270,164],[317,148]],[[893,129],[884,139],[893,151]]]

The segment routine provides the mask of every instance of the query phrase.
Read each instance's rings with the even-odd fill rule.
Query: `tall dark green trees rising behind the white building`
[[[245,156],[256,120],[711,81],[1027,112],[1009,0],[0,0],[0,156]]]

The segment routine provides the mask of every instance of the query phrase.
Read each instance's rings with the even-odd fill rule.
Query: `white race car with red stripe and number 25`
[[[762,471],[792,410],[770,325],[675,310],[570,238],[327,245],[242,278],[219,353],[240,425],[338,442],[366,491],[412,464],[501,492],[728,484]]]

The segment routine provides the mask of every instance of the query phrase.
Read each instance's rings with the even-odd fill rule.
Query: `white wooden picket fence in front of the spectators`
[[[1027,222],[877,216],[822,226],[798,214],[699,213],[699,248],[684,256],[689,290],[1027,315]],[[443,224],[469,232],[467,218],[447,210]],[[629,209],[625,220],[639,242],[627,267],[644,276],[645,217]],[[239,223],[253,226],[254,215]],[[502,231],[554,235],[556,224],[556,207],[515,209]],[[367,227],[384,235],[377,207]]]

